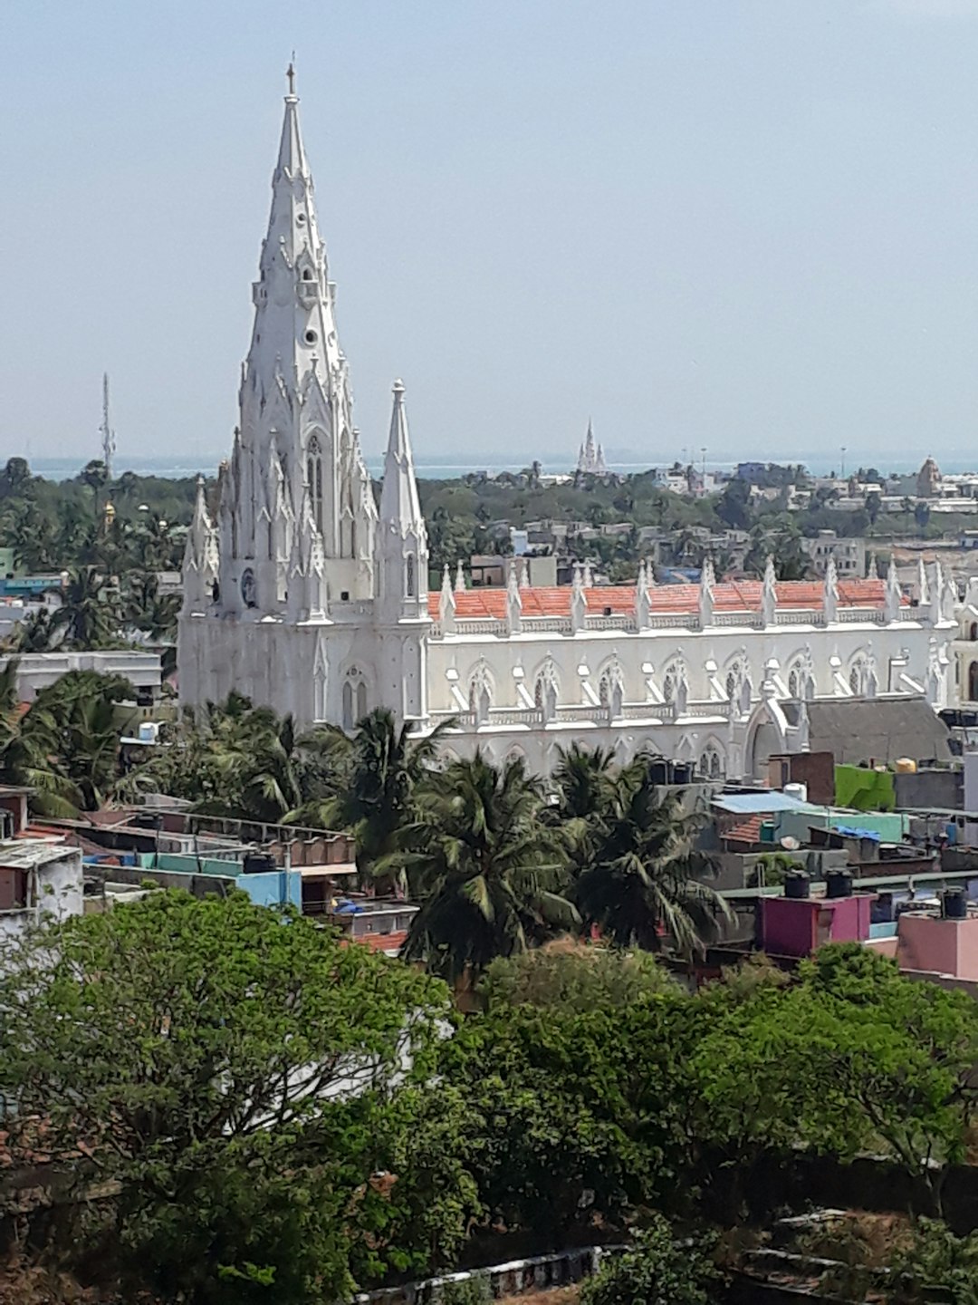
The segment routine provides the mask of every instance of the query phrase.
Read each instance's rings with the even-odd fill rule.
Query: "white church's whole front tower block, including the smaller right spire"
[[[352,728],[377,706],[424,719],[428,542],[404,386],[394,386],[378,517],[291,68],[252,296],[241,415],[218,476],[216,521],[201,489],[188,535],[181,699],[220,701],[239,689],[300,726]]]

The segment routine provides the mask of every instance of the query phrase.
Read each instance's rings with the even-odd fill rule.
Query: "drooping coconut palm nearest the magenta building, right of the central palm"
[[[652,783],[644,758],[632,762],[592,831],[593,860],[574,887],[582,917],[621,946],[700,951],[730,917],[702,880],[709,863],[696,848],[700,823],[675,793]]]

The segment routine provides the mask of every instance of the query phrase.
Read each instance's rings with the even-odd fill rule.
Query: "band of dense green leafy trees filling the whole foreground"
[[[10,954],[7,1144],[100,1193],[52,1254],[196,1305],[310,1305],[451,1266],[490,1231],[542,1250],[630,1225],[647,1231],[588,1296],[696,1302],[705,1262],[683,1268],[649,1211],[735,1227],[763,1203],[758,1161],[799,1148],[915,1173],[960,1156],[969,997],[855,945],[695,994],[659,964],[582,946],[496,962],[459,1023],[438,980],[309,920],[159,893]],[[938,1240],[927,1283],[961,1259]]]

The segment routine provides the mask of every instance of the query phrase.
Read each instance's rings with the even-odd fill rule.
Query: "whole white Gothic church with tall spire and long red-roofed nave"
[[[239,689],[300,726],[352,728],[390,707],[446,752],[481,746],[548,771],[574,741],[643,746],[711,776],[751,778],[808,744],[814,699],[948,699],[957,599],[935,564],[913,603],[891,568],[824,582],[428,590],[428,547],[404,386],[394,382],[379,508],[352,419],[335,286],[286,97],[271,215],[252,287],[240,425],[216,521],[201,484],[184,561],[180,696]],[[595,457],[597,450],[595,450]]]

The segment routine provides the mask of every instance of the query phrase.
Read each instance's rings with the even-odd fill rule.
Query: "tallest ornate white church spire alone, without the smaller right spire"
[[[377,512],[291,69],[252,298],[241,418],[222,487],[220,604],[246,620],[287,612],[301,559],[301,609],[325,613],[333,602],[373,596]]]

